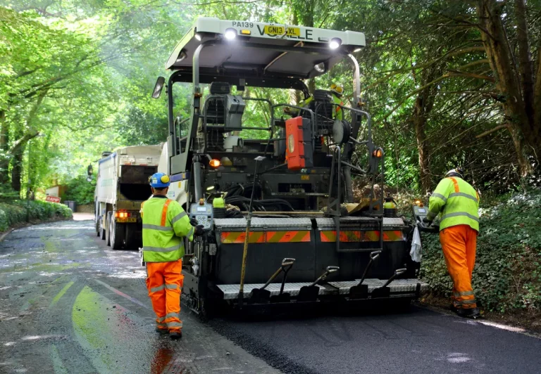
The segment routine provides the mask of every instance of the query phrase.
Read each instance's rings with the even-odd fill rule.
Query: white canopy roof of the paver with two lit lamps
[[[361,49],[365,38],[362,32],[199,18],[171,53],[166,68],[191,72],[201,44],[206,44],[199,56],[204,74],[307,79]]]

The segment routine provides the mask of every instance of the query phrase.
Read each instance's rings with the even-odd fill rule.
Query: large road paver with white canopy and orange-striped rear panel
[[[170,77],[158,77],[152,96],[167,86],[169,198],[205,228],[186,243],[182,270],[182,297],[196,313],[407,303],[428,287],[409,256],[414,224],[383,195],[385,152],[373,143],[353,54],[364,46],[361,32],[198,18],[171,53]],[[244,94],[305,100],[307,80],[342,61],[352,67],[350,105],[323,89],[306,107]],[[182,85],[186,117],[174,112]],[[255,105],[265,110],[259,122]],[[360,202],[355,176],[370,191]]]

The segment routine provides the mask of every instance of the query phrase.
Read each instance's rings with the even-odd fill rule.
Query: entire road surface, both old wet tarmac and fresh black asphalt
[[[0,373],[540,373],[541,340],[413,307],[404,314],[199,322],[154,332],[137,252],[92,221],[0,243]]]

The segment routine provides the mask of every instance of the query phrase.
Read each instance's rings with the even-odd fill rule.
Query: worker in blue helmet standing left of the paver
[[[152,196],[141,205],[143,219],[143,261],[147,264],[147,289],[156,313],[156,331],[182,337],[180,292],[184,238],[203,234],[203,226],[192,226],[184,209],[167,198],[169,176],[150,177]]]

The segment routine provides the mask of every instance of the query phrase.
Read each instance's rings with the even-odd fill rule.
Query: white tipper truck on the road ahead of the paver
[[[104,152],[98,161],[94,212],[97,236],[113,250],[142,246],[141,202],[151,195],[161,146],[130,146]]]

